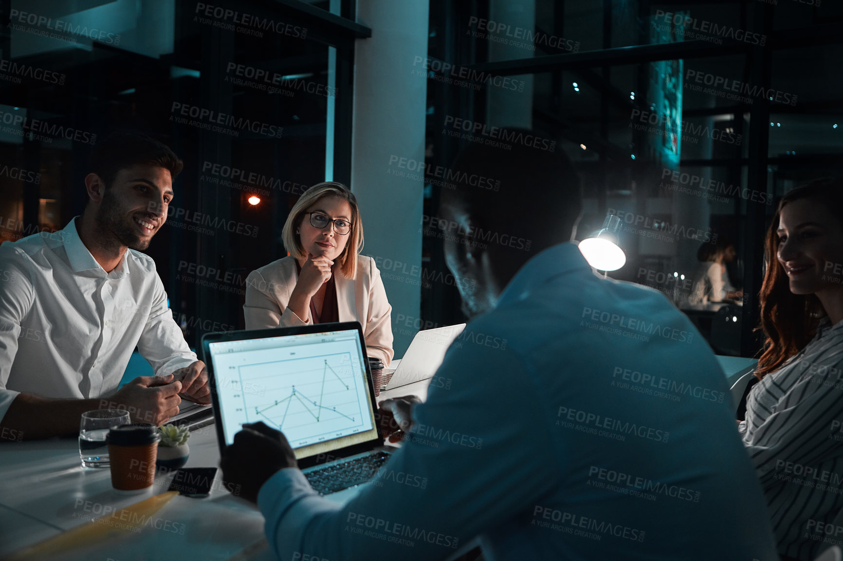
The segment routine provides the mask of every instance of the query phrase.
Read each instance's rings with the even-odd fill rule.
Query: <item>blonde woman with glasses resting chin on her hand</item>
[[[356,320],[367,354],[389,366],[392,307],[374,259],[359,254],[363,227],[351,190],[331,181],[305,191],[282,239],[289,256],[246,279],[246,329]]]

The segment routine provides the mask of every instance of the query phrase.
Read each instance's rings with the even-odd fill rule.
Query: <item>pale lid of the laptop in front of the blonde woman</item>
[[[424,329],[416,333],[392,378],[384,389],[406,386],[432,378],[445,360],[445,351],[465,329],[465,323],[437,329]],[[389,374],[389,371],[384,373]]]

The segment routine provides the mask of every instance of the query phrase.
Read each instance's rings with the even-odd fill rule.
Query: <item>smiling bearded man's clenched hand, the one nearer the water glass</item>
[[[179,413],[181,382],[169,376],[140,376],[126,382],[113,397],[113,403],[126,405],[132,421],[163,425]]]

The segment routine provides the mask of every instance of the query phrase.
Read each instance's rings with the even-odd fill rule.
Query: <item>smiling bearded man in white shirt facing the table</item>
[[[140,253],[167,219],[181,160],[130,132],[94,149],[83,216],[49,236],[0,245],[0,428],[33,440],[78,431],[91,409],[126,407],[160,425],[181,398],[210,403],[167,307],[153,259]],[[156,376],[114,393],[137,345]]]

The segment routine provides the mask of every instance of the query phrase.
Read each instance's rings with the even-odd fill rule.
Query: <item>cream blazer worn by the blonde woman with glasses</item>
[[[296,259],[284,257],[253,270],[246,277],[246,302],[243,314],[246,329],[309,325],[287,307],[298,281]],[[371,257],[357,256],[357,279],[334,275],[336,304],[341,322],[358,321],[363,328],[366,354],[376,356],[389,366],[392,350],[392,306],[386,299],[384,282]]]

